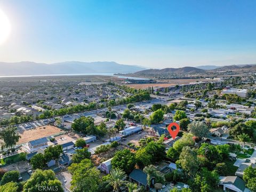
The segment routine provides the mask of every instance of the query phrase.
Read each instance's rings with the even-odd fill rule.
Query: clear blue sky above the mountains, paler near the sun
[[[256,1],[0,0],[0,61],[150,68],[256,63]]]

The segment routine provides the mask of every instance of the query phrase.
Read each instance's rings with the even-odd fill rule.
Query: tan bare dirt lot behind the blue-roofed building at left
[[[61,129],[52,125],[36,127],[35,129],[30,129],[26,131],[19,131],[18,133],[20,134],[21,138],[19,139],[18,144],[26,143],[28,141],[39,139],[42,137],[48,137],[61,132],[63,132]]]

